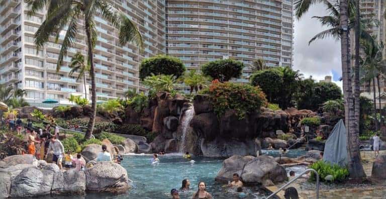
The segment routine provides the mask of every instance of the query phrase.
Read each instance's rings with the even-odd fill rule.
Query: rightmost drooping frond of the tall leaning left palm
[[[134,41],[139,46],[139,49],[143,51],[145,44],[137,26],[124,14],[121,14],[121,19],[122,24],[119,30],[119,42],[121,45]]]

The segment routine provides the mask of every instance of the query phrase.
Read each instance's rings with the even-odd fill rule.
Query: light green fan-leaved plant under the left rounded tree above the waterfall
[[[149,86],[155,92],[171,92],[177,87],[176,79],[172,75],[151,75],[143,80],[143,85]]]

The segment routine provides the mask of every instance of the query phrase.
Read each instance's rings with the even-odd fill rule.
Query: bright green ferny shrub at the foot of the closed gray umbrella
[[[310,168],[315,169],[320,177],[321,181],[325,181],[327,175],[332,175],[334,182],[343,182],[349,175],[348,169],[346,167],[341,167],[339,165],[331,165],[328,162],[320,160],[310,165]],[[310,176],[311,181],[316,180],[315,174],[312,172]]]

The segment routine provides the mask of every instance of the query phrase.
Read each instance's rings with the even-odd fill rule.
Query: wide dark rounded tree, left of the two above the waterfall
[[[185,72],[186,68],[182,61],[177,57],[170,57],[166,55],[157,55],[142,59],[139,78],[143,80],[147,76],[154,75],[173,75],[176,78]]]

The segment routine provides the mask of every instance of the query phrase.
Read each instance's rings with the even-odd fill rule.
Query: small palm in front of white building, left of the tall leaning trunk
[[[69,67],[72,68],[71,71],[68,73],[68,76],[72,76],[74,72],[78,72],[78,77],[76,80],[79,80],[80,77],[83,77],[83,84],[84,84],[84,98],[87,98],[87,89],[86,89],[86,72],[90,71],[90,65],[84,62],[84,56],[77,52],[71,59],[71,63],[69,64]]]

